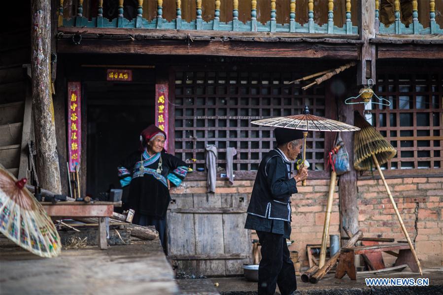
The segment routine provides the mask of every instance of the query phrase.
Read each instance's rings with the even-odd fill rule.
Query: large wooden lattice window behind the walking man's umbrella
[[[323,87],[307,92],[288,84],[300,74],[251,71],[175,72],[175,155],[196,159],[205,166],[205,147],[215,144],[217,164],[226,168],[226,148],[235,147],[234,170],[257,170],[263,156],[274,147],[273,129],[251,125],[254,119],[300,114],[305,104],[312,114],[325,115]],[[312,132],[307,159],[312,170],[324,169],[324,133]]]

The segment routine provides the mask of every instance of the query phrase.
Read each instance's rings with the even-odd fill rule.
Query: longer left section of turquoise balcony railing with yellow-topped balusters
[[[75,1],[75,0],[74,0]],[[106,0],[104,0],[106,1]],[[112,1],[112,0],[109,0]],[[147,0],[149,1],[149,0]],[[220,20],[221,12],[226,14],[226,11],[221,11],[221,5],[226,5],[226,2],[232,2],[232,12],[231,20],[227,22],[222,22]],[[249,20],[242,22],[239,20],[239,1],[241,1],[241,8],[245,6],[250,7],[250,17]],[[143,17],[143,0],[138,0],[137,14],[132,19],[127,19],[124,17],[124,1],[118,0],[118,16],[113,19],[107,19],[103,16],[103,0],[98,0],[97,3],[97,14],[96,17],[86,18],[83,15],[83,0],[78,0],[77,3],[77,13],[70,19],[64,18],[64,0],[60,0],[59,8],[59,27],[93,27],[93,28],[142,28],[142,29],[179,29],[179,30],[209,30],[209,31],[240,31],[240,32],[286,32],[286,33],[330,33],[330,34],[357,34],[358,29],[356,26],[352,26],[351,21],[351,0],[335,0],[340,3],[345,4],[345,21],[341,21],[342,26],[338,27],[334,25],[334,0],[322,0],[321,5],[324,5],[322,10],[327,9],[328,20],[324,24],[316,24],[314,22],[314,15],[317,6],[314,5],[314,0],[268,0],[270,4],[269,20],[261,22],[258,20],[257,16],[257,0],[204,0],[204,4],[211,7],[203,7],[202,0],[174,0],[174,7],[164,7],[163,0],[156,0],[157,2],[157,13],[156,16],[147,20]],[[166,1],[171,3],[171,1]],[[224,3],[223,3],[224,2]],[[247,2],[247,3],[246,3]],[[264,2],[264,1],[260,1]],[[278,2],[278,3],[277,3]],[[296,5],[303,3],[307,6],[307,22],[303,25],[296,21]],[[210,4],[210,5],[209,5]],[[231,4],[231,3],[229,3]],[[247,5],[245,5],[247,4]],[[277,4],[282,7],[282,10],[288,11],[289,23],[279,24],[277,23]],[[307,5],[306,5],[307,4]],[[182,6],[187,5],[186,8],[194,6],[195,9],[195,19],[186,21],[182,19]],[[91,7],[93,5],[89,5]],[[344,5],[343,5],[344,6]],[[284,8],[283,8],[284,7]],[[164,10],[174,10],[175,18],[167,20],[163,17]],[[210,13],[212,19],[204,20],[202,17],[202,10],[206,12],[209,10],[213,11]],[[262,9],[261,19],[263,19],[264,11]],[[243,12],[244,13],[244,12]],[[208,13],[205,14],[207,19]]]

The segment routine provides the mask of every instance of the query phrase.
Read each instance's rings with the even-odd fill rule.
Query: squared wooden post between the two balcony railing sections
[[[360,27],[360,38],[365,43],[362,46],[361,60],[358,63],[357,84],[368,85],[368,80],[375,79],[375,45],[369,44],[369,39],[375,37],[375,1],[358,1],[358,17]]]

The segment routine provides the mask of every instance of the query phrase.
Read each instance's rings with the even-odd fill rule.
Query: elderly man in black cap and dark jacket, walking
[[[254,229],[260,239],[258,294],[274,294],[278,284],[280,293],[285,295],[297,289],[286,244],[291,234],[291,195],[297,193],[297,182],[307,179],[307,168],[302,165],[291,177],[290,161],[300,154],[303,132],[276,128],[274,135],[277,147],[266,154],[258,167],[245,229]]]

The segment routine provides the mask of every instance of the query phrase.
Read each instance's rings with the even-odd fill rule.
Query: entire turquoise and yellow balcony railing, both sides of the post
[[[65,7],[64,0],[59,1],[59,27],[348,35],[359,31],[353,26],[357,0],[70,0]],[[374,9],[378,33],[443,33],[443,0],[375,0]]]

